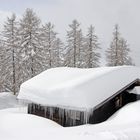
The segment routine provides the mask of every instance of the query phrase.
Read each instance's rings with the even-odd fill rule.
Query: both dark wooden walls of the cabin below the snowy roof
[[[113,113],[127,103],[140,99],[140,95],[128,92],[128,90],[133,89],[135,86],[140,86],[139,79],[134,80],[126,87],[101,102],[91,109],[90,112],[32,103],[28,105],[28,113],[49,118],[62,126],[100,123],[107,120]]]

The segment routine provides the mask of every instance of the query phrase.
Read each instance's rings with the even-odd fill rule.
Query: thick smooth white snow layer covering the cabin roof
[[[134,66],[52,68],[24,82],[18,98],[44,105],[90,109],[137,78],[140,68]]]

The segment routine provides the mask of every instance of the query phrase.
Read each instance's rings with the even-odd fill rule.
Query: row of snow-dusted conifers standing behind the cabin
[[[32,9],[17,20],[7,18],[0,33],[0,92],[16,94],[21,83],[53,67],[94,68],[100,66],[101,44],[93,25],[83,35],[73,20],[64,43],[51,22],[41,23]],[[107,66],[134,65],[127,41],[115,25],[113,39],[105,52]]]

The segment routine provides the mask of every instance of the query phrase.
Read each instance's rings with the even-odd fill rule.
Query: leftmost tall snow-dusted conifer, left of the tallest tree
[[[18,50],[18,29],[16,16],[13,14],[4,24],[2,32],[2,53],[1,56],[1,78],[5,90],[17,91],[17,50]]]

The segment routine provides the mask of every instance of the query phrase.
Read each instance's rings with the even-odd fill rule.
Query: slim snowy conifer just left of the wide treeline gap
[[[98,37],[95,35],[94,27],[91,25],[88,28],[88,34],[86,37],[86,61],[87,67],[99,67],[100,53],[99,53]]]

